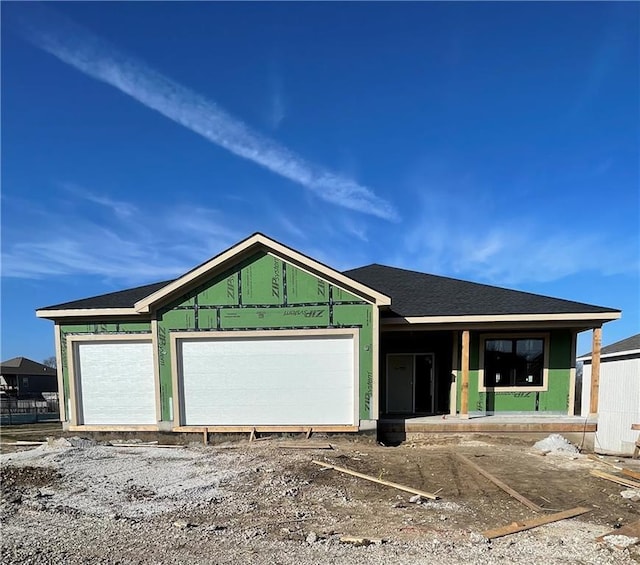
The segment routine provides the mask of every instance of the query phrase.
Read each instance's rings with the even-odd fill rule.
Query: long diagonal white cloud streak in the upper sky
[[[21,32],[34,45],[86,75],[223,147],[310,190],[317,197],[361,213],[396,220],[397,212],[370,188],[311,163],[253,130],[212,100],[114,48],[84,27],[43,6],[22,8]]]

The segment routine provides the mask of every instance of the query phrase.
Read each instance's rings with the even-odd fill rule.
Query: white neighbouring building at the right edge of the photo
[[[589,413],[585,390],[593,388],[593,352],[578,357],[582,369],[582,415]],[[612,455],[632,455],[640,424],[640,334],[603,347],[600,351],[598,431],[595,450]]]

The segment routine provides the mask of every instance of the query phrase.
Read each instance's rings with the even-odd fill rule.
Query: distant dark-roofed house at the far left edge
[[[10,398],[42,398],[42,393],[58,391],[58,373],[55,367],[15,357],[2,362],[0,390]]]

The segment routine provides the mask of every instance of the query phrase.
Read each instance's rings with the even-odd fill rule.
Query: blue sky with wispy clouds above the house
[[[3,359],[255,231],[640,328],[640,4],[1,8]]]

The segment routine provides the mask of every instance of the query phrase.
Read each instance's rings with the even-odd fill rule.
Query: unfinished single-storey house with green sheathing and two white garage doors
[[[356,431],[573,415],[576,335],[620,311],[382,265],[339,272],[254,234],[178,279],[37,315],[55,321],[67,427]]]

